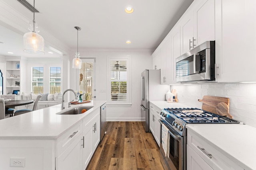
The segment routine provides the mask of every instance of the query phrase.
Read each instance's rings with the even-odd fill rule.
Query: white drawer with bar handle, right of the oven
[[[187,145],[190,146],[214,170],[244,170],[224,154],[214,149],[202,137],[188,129]],[[209,155],[210,154],[210,155]]]

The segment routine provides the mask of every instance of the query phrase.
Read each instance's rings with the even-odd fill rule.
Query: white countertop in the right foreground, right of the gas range
[[[245,170],[256,170],[256,128],[248,125],[186,125]]]

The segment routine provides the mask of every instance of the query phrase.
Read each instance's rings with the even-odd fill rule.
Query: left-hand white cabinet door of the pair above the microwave
[[[181,46],[181,54],[188,52],[190,49],[193,48],[193,11],[189,9],[186,11],[186,14],[182,16],[180,21],[180,46]],[[195,41],[194,41],[195,45]]]

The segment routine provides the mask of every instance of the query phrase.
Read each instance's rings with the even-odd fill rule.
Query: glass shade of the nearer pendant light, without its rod
[[[44,54],[44,38],[36,32],[25,33],[23,44],[26,53]]]

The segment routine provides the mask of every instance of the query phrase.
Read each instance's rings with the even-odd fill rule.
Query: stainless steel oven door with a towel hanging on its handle
[[[159,120],[159,122],[161,123],[161,126],[164,124],[169,129],[168,135],[170,135],[168,156],[165,156],[162,142],[160,142],[160,158],[164,157],[164,159],[161,160],[164,161],[162,164],[168,164],[168,168],[171,170],[186,169],[186,161],[184,161],[184,158],[186,158],[186,136],[179,135],[165,121]]]

